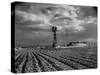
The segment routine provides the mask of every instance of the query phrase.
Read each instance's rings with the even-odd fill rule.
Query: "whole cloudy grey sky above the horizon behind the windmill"
[[[12,11],[13,15],[13,11]],[[16,45],[51,45],[57,27],[58,44],[97,40],[97,9],[89,6],[17,3],[15,5]]]

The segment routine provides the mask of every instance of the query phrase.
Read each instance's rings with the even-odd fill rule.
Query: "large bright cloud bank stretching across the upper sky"
[[[78,32],[85,30],[84,25],[87,23],[96,24],[96,17],[87,16],[82,19],[78,19],[80,14],[83,13],[80,11],[80,7],[77,6],[68,6],[68,5],[54,5],[42,6],[35,8],[31,6],[30,9],[36,9],[36,11],[42,10],[40,13],[25,12],[21,10],[16,10],[16,15],[23,18],[20,22],[22,25],[28,25],[29,27],[34,27],[32,25],[37,25],[37,27],[49,29],[51,26],[57,26],[58,30],[62,31],[63,29],[71,29],[70,32]],[[48,15],[43,14],[43,9]],[[54,10],[55,9],[55,10]],[[34,10],[35,11],[35,10]],[[81,12],[81,13],[80,13]],[[55,17],[60,15],[58,17]],[[64,30],[63,30],[64,31]]]

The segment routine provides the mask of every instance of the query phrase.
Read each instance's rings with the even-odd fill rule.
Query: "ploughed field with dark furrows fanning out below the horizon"
[[[93,68],[97,68],[96,48],[24,48],[15,51],[16,73]]]

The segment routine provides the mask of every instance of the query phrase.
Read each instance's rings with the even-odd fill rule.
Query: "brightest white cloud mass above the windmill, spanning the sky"
[[[79,32],[79,31],[84,31],[85,30],[85,25],[87,25],[88,23],[93,23],[96,24],[97,19],[96,17],[92,17],[92,16],[88,16],[82,19],[78,19],[77,17],[80,17],[80,8],[79,7],[75,7],[75,6],[67,6],[67,5],[56,5],[54,6],[57,9],[55,9],[54,11],[50,11],[52,12],[49,13],[49,15],[44,15],[44,14],[35,14],[35,13],[29,13],[29,12],[24,12],[24,11],[20,11],[20,10],[16,10],[16,14],[20,15],[21,17],[23,17],[22,22],[25,22],[27,20],[30,21],[41,21],[42,24],[39,24],[37,26],[40,26],[41,28],[46,28],[49,29],[51,26],[57,26],[58,30],[63,31],[64,29],[69,29],[71,32]],[[41,7],[42,8],[42,7]],[[35,11],[35,10],[34,10]],[[55,14],[61,14],[61,16],[55,18],[54,15]],[[83,15],[83,13],[81,12],[81,15]],[[60,18],[70,18],[71,20],[68,19],[61,19]],[[55,20],[55,22],[52,22],[51,20]],[[34,27],[32,25],[29,25],[29,27]]]

